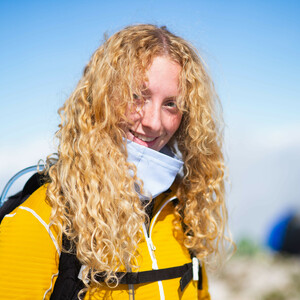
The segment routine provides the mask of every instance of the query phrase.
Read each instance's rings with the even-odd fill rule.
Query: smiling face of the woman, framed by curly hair
[[[146,72],[148,81],[142,98],[134,95],[126,116],[131,124],[125,130],[127,139],[159,151],[178,129],[182,113],[177,107],[181,67],[167,57],[154,58]]]

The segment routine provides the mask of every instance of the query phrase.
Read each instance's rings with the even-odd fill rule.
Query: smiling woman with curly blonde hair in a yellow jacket
[[[62,250],[82,266],[84,299],[209,299],[196,269],[219,253],[226,224],[216,100],[202,60],[165,27],[105,41],[60,109],[50,182],[1,224],[0,264],[13,257],[21,278],[0,271],[0,298],[49,299]],[[162,269],[166,279],[143,273]]]

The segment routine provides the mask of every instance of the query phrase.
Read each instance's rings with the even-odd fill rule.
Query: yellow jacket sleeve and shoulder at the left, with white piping
[[[44,299],[58,272],[60,243],[50,228],[47,186],[36,190],[0,225],[0,298]],[[18,276],[17,274],[22,274]]]

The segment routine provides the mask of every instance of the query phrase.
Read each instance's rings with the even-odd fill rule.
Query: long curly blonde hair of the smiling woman
[[[184,245],[199,259],[218,253],[224,238],[221,119],[204,63],[191,45],[166,27],[126,27],[96,50],[59,110],[58,160],[49,165],[52,224],[75,246],[68,251],[76,251],[87,266],[91,284],[97,273],[104,273],[109,282],[116,279],[116,271],[138,267],[141,225],[147,217],[134,189],[139,179],[135,166],[127,162],[122,128],[129,122],[128,104],[158,56],[182,68],[178,103],[183,118],[169,143],[184,161],[175,227],[184,224]]]

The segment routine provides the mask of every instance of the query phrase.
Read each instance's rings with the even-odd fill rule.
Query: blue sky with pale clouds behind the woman
[[[57,109],[104,33],[167,27],[207,62],[223,103],[232,231],[263,239],[300,208],[299,1],[0,2],[0,190],[55,150]]]

